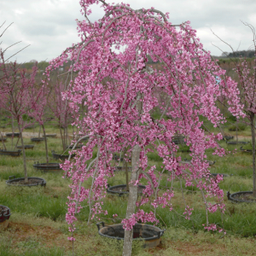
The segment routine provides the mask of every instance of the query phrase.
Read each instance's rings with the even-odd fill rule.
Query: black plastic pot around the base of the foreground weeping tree
[[[124,240],[125,238],[123,224],[113,224],[105,227],[104,222],[101,222],[96,225],[100,236],[117,240]],[[164,235],[164,232],[165,230],[160,230],[160,228],[154,225],[135,224],[133,227],[133,241],[143,240],[143,247],[157,247],[160,244],[161,236]]]

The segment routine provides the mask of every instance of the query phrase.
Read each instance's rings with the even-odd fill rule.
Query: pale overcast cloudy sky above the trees
[[[105,0],[107,3],[120,3],[116,0]],[[256,27],[255,0],[122,0],[130,3],[131,8],[160,9],[170,13],[172,24],[180,24],[190,20],[191,26],[197,30],[204,48],[212,55],[231,51],[216,38],[211,30],[218,34],[234,49],[248,49],[253,44],[253,34],[241,20]],[[12,26],[0,39],[2,48],[22,41],[7,51],[6,57],[22,50],[11,60],[49,61],[72,44],[79,42],[75,19],[84,20],[80,15],[79,0],[0,0],[0,34],[10,23]],[[98,20],[103,12],[93,6],[90,20]],[[0,46],[1,47],[1,46]]]

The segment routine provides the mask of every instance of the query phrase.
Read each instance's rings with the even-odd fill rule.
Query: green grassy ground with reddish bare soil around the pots
[[[58,133],[59,129],[54,125],[45,125],[47,133]],[[69,129],[72,133],[72,129]],[[3,132],[11,131],[9,127]],[[38,127],[35,132],[38,131]],[[234,136],[236,131],[226,133]],[[32,130],[25,130],[32,132]],[[239,131],[239,141],[250,141],[250,131],[247,127]],[[14,144],[17,138],[14,138]],[[32,144],[30,137],[24,138],[25,144]],[[7,139],[6,147],[11,146],[11,138]],[[70,236],[65,220],[67,212],[67,196],[70,193],[68,187],[70,181],[64,179],[62,171],[41,172],[33,168],[34,162],[45,162],[44,142],[33,143],[33,149],[26,149],[26,162],[28,177],[43,177],[47,184],[45,187],[32,188],[8,186],[5,181],[10,176],[24,177],[22,155],[19,157],[0,155],[0,204],[8,206],[11,210],[9,226],[0,231],[0,255],[121,255],[122,244],[98,235],[96,220],[90,220],[89,207],[85,204],[78,214],[78,223],[73,234],[76,241],[68,241]],[[157,217],[161,229],[166,229],[162,236],[161,244],[155,248],[143,248],[143,242],[133,243],[132,255],[255,255],[254,245],[256,236],[256,206],[255,204],[236,204],[228,201],[226,193],[238,191],[251,191],[253,189],[252,154],[241,152],[240,145],[230,145],[224,141],[220,145],[231,151],[223,158],[207,152],[207,160],[214,161],[210,166],[212,173],[223,173],[227,176],[219,183],[224,189],[224,202],[226,211],[209,213],[209,222],[217,224],[226,231],[208,232],[204,230],[206,223],[206,211],[201,200],[201,193],[195,187],[185,187],[183,180],[174,182],[175,195],[172,199],[172,212],[166,208],[157,209]],[[59,137],[48,138],[49,162],[54,160],[51,150],[61,151],[61,139]],[[2,147],[0,147],[2,148]],[[181,149],[186,146],[181,146]],[[237,148],[237,152],[234,150]],[[244,146],[250,148],[250,144]],[[236,153],[235,153],[236,152]],[[59,153],[60,154],[60,153]],[[95,148],[96,154],[96,148]],[[189,153],[178,153],[183,160],[189,160]],[[154,153],[148,153],[149,166],[160,169],[161,158]],[[121,165],[121,164],[120,164]],[[167,173],[160,183],[160,189],[164,192],[170,185],[167,182]],[[85,188],[90,187],[90,180],[84,183]],[[117,172],[114,177],[108,179],[109,185],[125,183],[125,173]],[[145,183],[146,184],[146,183]],[[125,218],[127,196],[106,195],[104,210],[108,214],[100,217],[108,224],[120,223]],[[190,220],[183,216],[183,207],[189,202],[194,208]],[[143,208],[143,207],[142,207]],[[149,208],[144,208],[149,210]],[[118,218],[113,218],[117,213]]]

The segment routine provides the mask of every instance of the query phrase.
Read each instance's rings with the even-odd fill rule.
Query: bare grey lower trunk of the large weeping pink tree
[[[138,165],[140,160],[140,153],[141,153],[141,148],[138,145],[136,145],[132,149],[132,154],[131,154],[131,165],[132,165],[131,183],[129,186],[129,197],[128,197],[128,204],[127,204],[125,218],[131,218],[131,215],[135,213],[135,209],[136,209],[137,185],[134,185],[134,183],[137,181],[139,176]],[[131,256],[132,238],[133,238],[133,230],[125,230],[123,256]]]

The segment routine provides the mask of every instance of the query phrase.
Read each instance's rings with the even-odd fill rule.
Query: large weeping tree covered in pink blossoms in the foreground
[[[90,5],[102,3],[105,15],[91,22]],[[129,4],[108,4],[102,0],[80,1],[85,20],[78,21],[79,44],[66,49],[61,56],[51,61],[47,74],[71,59],[71,74],[76,73],[67,91],[73,113],[79,113],[82,102],[88,111],[77,118],[81,132],[90,137],[89,142],[77,152],[74,162],[66,160],[62,168],[72,180],[71,195],[68,197],[67,222],[75,230],[75,214],[80,212],[81,203],[87,201],[90,218],[102,213],[102,198],[106,195],[108,177],[114,176],[112,164],[115,152],[127,152],[131,157],[131,180],[125,219],[123,255],[131,255],[133,226],[138,222],[158,223],[157,208],[168,207],[172,211],[172,186],[160,191],[160,180],[164,172],[168,180],[183,178],[186,186],[195,185],[201,190],[207,212],[218,208],[224,211],[223,190],[218,188],[221,177],[212,178],[208,170],[206,149],[224,154],[219,148],[221,134],[205,133],[201,129],[199,116],[204,116],[216,127],[224,122],[216,101],[224,95],[229,99],[230,112],[239,116],[236,83],[231,79],[216,84],[216,76],[224,74],[209,52],[203,49],[189,21],[172,25],[168,14],[154,8],[131,9]],[[148,67],[150,55],[160,61],[161,68]],[[155,91],[166,94],[168,100],[162,104]],[[154,108],[160,108],[160,119],[151,117]],[[164,115],[169,119],[163,119]],[[172,143],[175,134],[183,135],[191,150],[192,160],[184,164],[177,157],[178,146]],[[150,146],[150,147],[149,147]],[[97,148],[93,158],[93,148]],[[147,153],[156,150],[163,159],[162,170],[148,166]],[[90,162],[90,164],[88,164]],[[82,183],[91,180],[90,189]],[[148,180],[143,196],[137,196],[141,179]],[[207,198],[215,204],[207,202]],[[150,201],[150,202],[149,202]],[[153,212],[140,209],[151,203]],[[184,215],[189,218],[193,209],[185,207]],[[216,230],[207,222],[207,229]],[[70,238],[73,240],[73,237]]]

